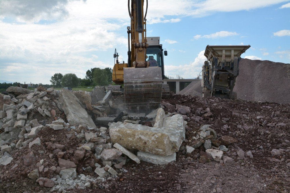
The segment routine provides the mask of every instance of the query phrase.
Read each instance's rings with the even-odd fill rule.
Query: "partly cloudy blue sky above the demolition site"
[[[35,2],[36,3],[35,3]],[[0,0],[0,79],[50,83],[127,61],[127,1]],[[215,5],[215,6],[212,6]],[[251,45],[242,58],[290,63],[290,1],[149,0],[147,36],[168,50],[165,74],[197,77],[206,45]]]

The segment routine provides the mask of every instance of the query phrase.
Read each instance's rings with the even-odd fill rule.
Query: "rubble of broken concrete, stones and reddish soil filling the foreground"
[[[259,181],[231,176],[251,191],[289,187],[274,183],[289,179],[289,105],[171,94],[144,114],[125,112],[123,93],[103,87],[23,89],[0,97],[3,191],[236,190],[205,185],[204,167],[261,172]]]

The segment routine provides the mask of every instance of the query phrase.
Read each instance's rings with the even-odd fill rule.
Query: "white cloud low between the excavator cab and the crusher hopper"
[[[197,75],[202,71],[202,65],[206,61],[204,56],[204,50],[201,51],[198,56],[190,64],[182,65],[164,65],[165,74],[171,77],[176,77],[177,74],[183,78],[197,77]]]

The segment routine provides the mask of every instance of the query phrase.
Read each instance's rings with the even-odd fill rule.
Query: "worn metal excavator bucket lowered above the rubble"
[[[151,112],[160,108],[161,68],[124,68],[124,94],[128,112]]]

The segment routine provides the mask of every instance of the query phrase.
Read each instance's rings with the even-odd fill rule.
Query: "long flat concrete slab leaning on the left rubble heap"
[[[92,118],[86,110],[82,108],[81,103],[75,95],[65,89],[61,89],[59,103],[66,114],[66,119],[70,125],[85,125],[90,128],[96,128]]]

